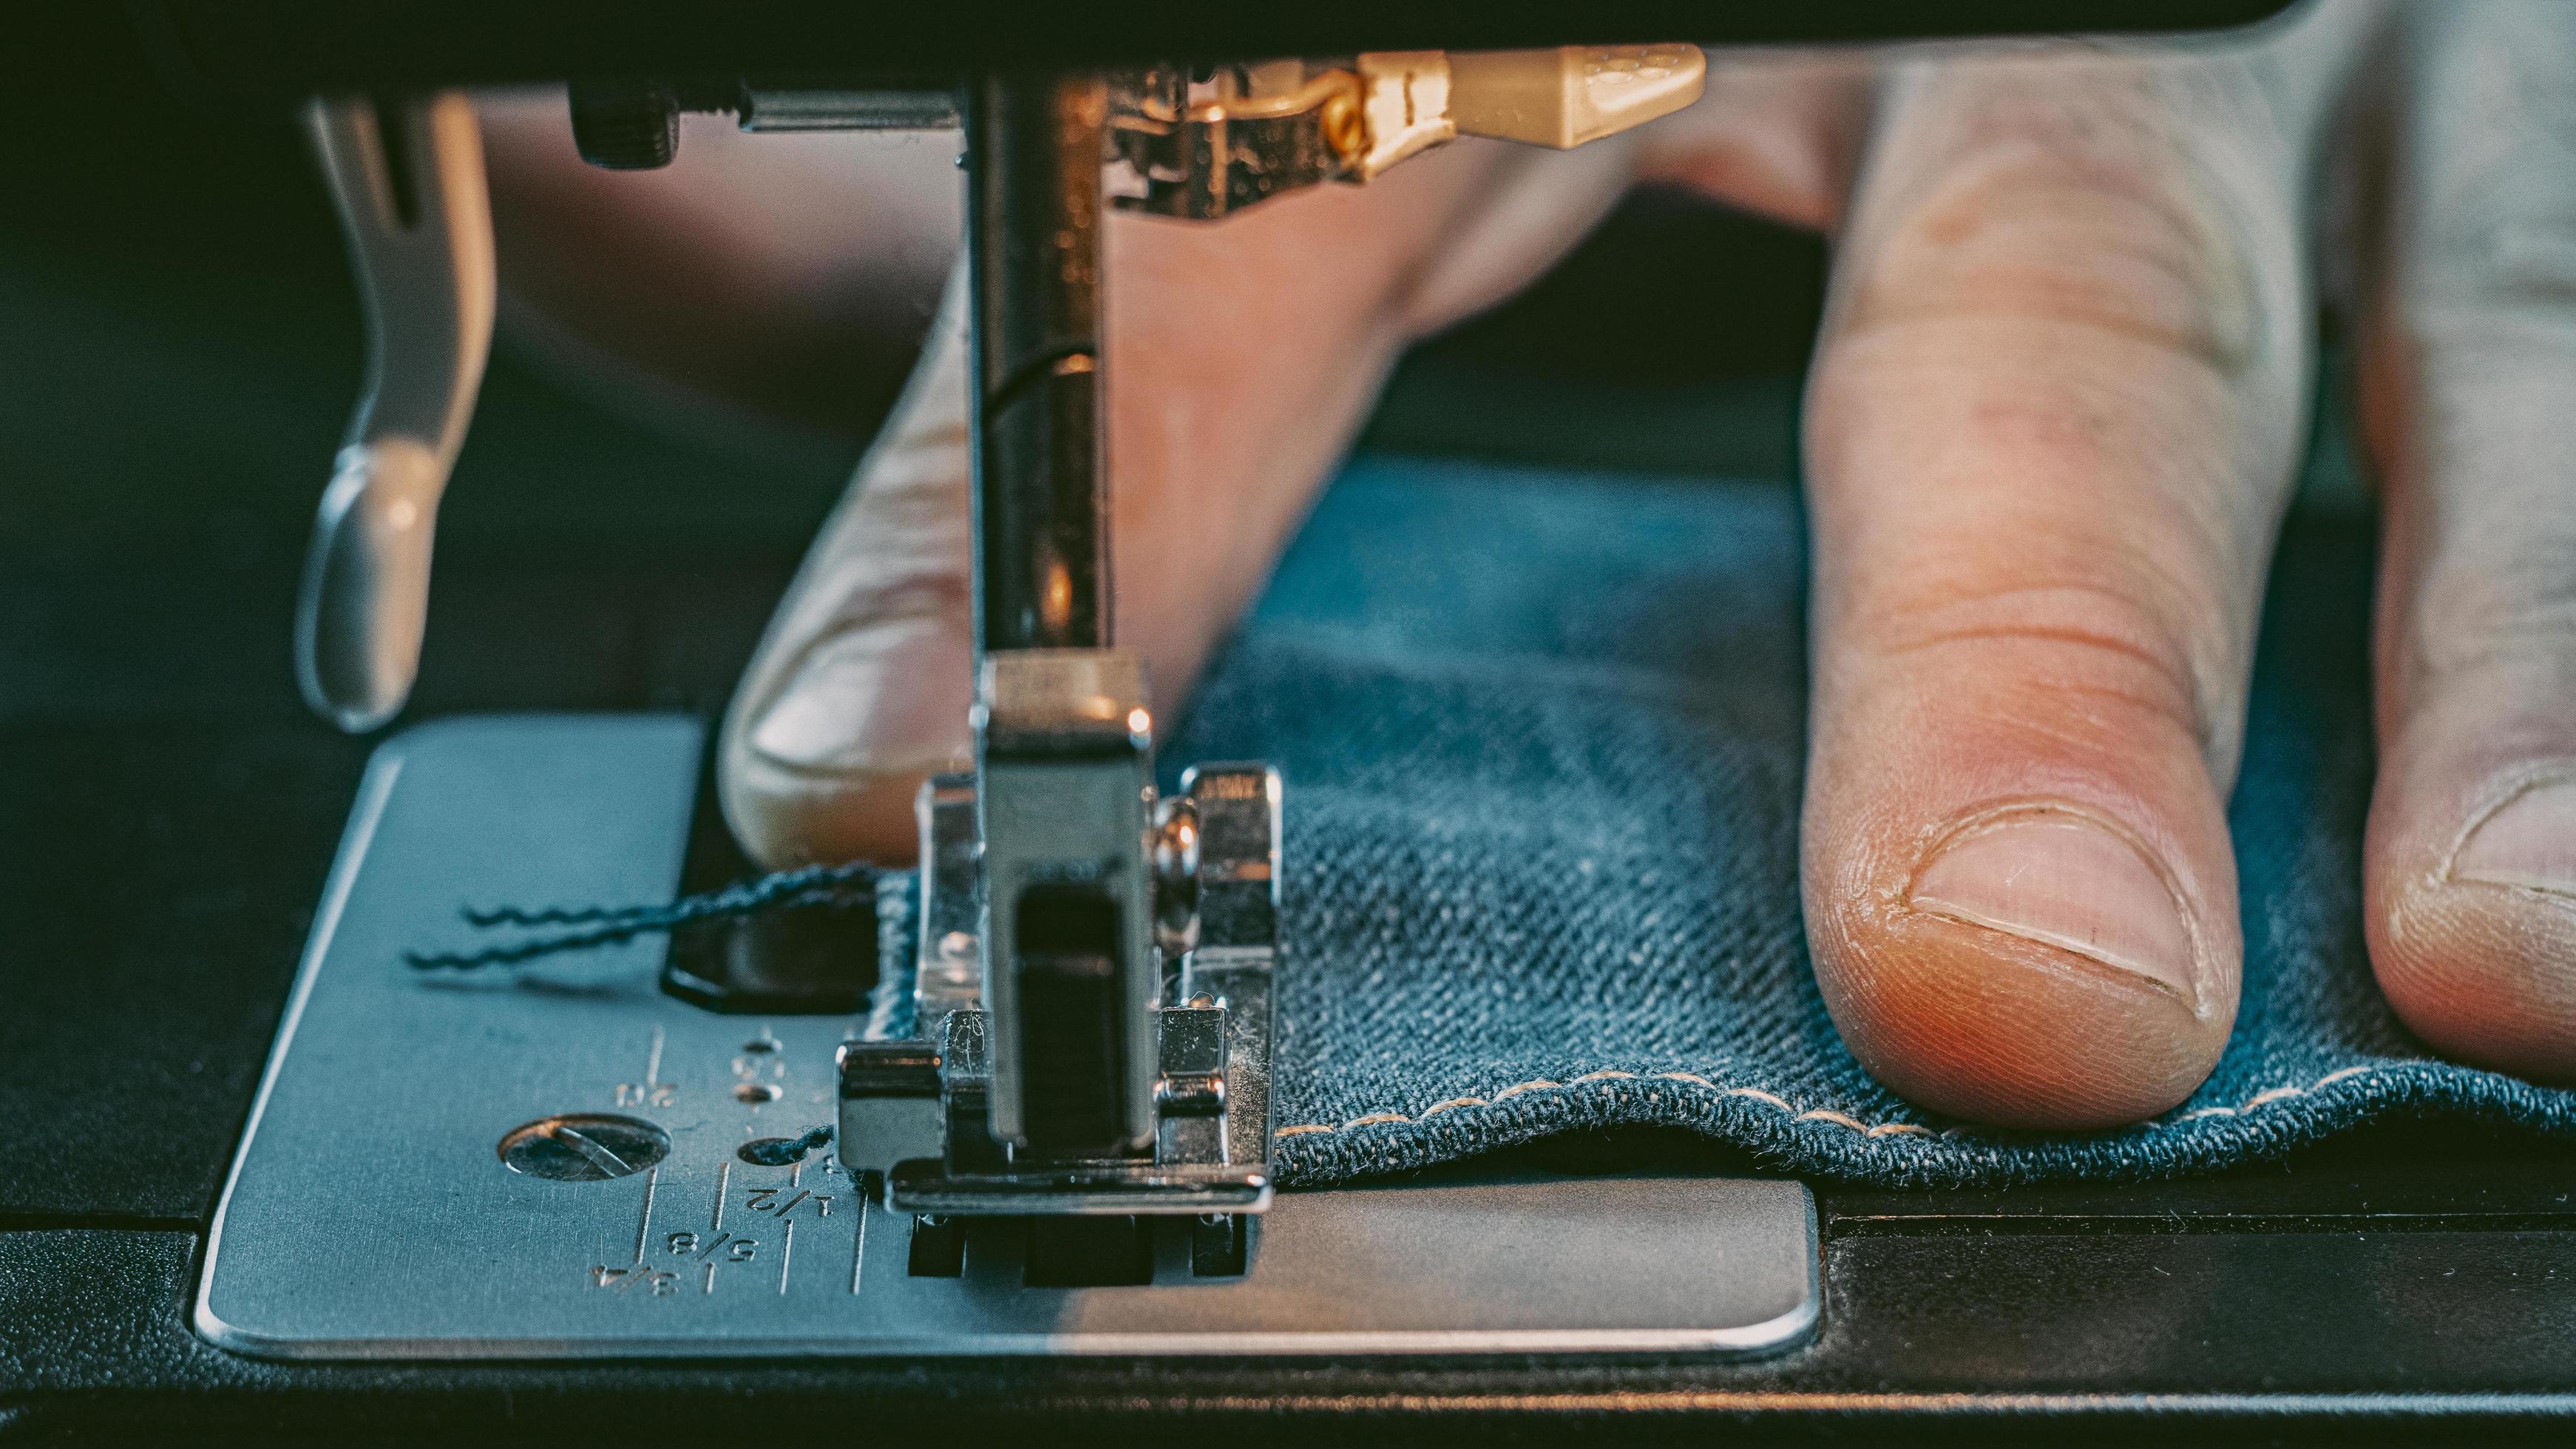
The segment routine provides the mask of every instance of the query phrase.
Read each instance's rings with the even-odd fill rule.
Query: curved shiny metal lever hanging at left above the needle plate
[[[459,90],[314,100],[307,129],[366,299],[366,391],[304,558],[296,682],[366,731],[420,669],[438,494],[492,353],[492,201]]]

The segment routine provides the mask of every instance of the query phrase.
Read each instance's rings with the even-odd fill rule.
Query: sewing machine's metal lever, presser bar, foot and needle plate
[[[319,1359],[1803,1341],[1816,1235],[1793,1181],[1273,1199],[1283,782],[1221,762],[1157,798],[1141,664],[1110,631],[1105,201],[1216,224],[1461,134],[1577,147],[1687,106],[1703,72],[1698,46],[1664,44],[1010,69],[963,90],[577,82],[582,154],[629,170],[672,160],[683,106],[752,131],[963,124],[976,770],[920,795],[917,937],[886,952],[912,950],[891,1011],[909,1024],[829,1042],[853,1029],[860,952],[791,963],[762,921],[714,965],[672,952],[662,993],[531,1001],[384,973],[379,932],[435,932],[456,903],[665,893],[701,752],[690,721],[402,734],[216,1210],[201,1333]],[[489,203],[461,93],[317,100],[309,124],[366,286],[371,389],[322,499],[296,659],[314,710],[374,728],[417,667],[433,510],[489,347]],[[459,1086],[420,1099],[358,1040]],[[832,1130],[809,1140],[824,1104]],[[350,1112],[428,1150],[348,1197],[314,1163]],[[459,1176],[466,1138],[492,1143]],[[631,1251],[600,1251],[629,1220]],[[422,1243],[495,1223],[507,1248],[404,1287]]]

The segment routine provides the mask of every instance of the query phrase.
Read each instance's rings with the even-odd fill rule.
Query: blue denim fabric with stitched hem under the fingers
[[[1880,1184],[2164,1176],[2385,1112],[2576,1130],[2576,1094],[2432,1060],[2370,981],[2370,535],[2324,517],[2264,618],[2208,1086],[2020,1135],[1870,1081],[1798,916],[1803,551],[1777,484],[1363,458],[1327,494],[1162,754],[1288,780],[1283,1181],[1628,1122]]]

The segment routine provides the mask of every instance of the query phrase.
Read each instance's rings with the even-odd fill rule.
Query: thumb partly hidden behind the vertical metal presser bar
[[[1461,142],[1218,224],[1108,219],[1115,618],[1157,713],[1267,582],[1404,342],[1538,275],[1625,178],[1618,144]],[[726,713],[724,811],[765,865],[907,860],[922,777],[969,759],[963,309],[953,275]]]

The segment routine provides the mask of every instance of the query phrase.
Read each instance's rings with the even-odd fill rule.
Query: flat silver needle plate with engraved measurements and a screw
[[[1280,1194],[1249,1271],[912,1277],[912,1220],[814,1153],[840,1017],[716,1017],[659,942],[513,973],[461,906],[667,898],[696,721],[459,718],[366,775],[214,1220],[198,1331],[283,1359],[1762,1354],[1816,1323],[1814,1204],[1749,1179]],[[667,1145],[665,1145],[667,1140]]]

